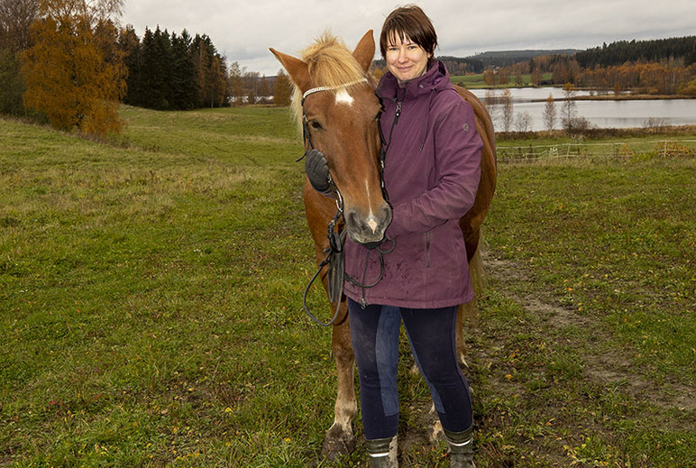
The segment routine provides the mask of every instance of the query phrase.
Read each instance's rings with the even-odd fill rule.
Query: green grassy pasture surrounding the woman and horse
[[[287,109],[122,113],[107,143],[0,120],[0,466],[364,466],[318,456],[334,362]],[[499,165],[477,466],[695,466],[696,158],[652,140]],[[402,351],[401,466],[444,467]]]

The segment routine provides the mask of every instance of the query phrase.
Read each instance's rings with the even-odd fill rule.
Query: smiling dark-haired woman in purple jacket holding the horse
[[[349,240],[344,250],[350,277],[344,293],[372,467],[397,466],[402,322],[444,427],[450,466],[474,466],[472,400],[457,361],[455,320],[458,306],[473,298],[458,221],[476,197],[482,143],[472,107],[435,60],[436,45],[433,24],[415,5],[394,10],[384,22],[380,50],[389,71],[376,93],[393,220],[380,245]],[[307,156],[310,181],[325,190],[325,161]]]

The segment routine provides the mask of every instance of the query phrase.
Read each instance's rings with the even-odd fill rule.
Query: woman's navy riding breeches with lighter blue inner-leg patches
[[[453,432],[472,427],[472,399],[457,362],[456,306],[363,309],[349,298],[348,310],[366,439],[392,437],[398,431],[398,334],[402,321],[443,427]]]

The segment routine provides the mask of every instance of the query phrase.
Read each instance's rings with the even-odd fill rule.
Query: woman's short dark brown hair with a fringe
[[[389,41],[394,38],[407,39],[426,50],[432,57],[437,46],[437,33],[430,18],[417,5],[401,6],[391,12],[382,25],[380,52],[387,56]]]

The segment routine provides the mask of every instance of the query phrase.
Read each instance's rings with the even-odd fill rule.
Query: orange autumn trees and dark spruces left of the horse
[[[193,109],[289,103],[284,73],[228,65],[210,37],[120,28],[124,0],[0,0],[0,113],[105,135],[118,105]]]

